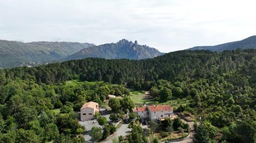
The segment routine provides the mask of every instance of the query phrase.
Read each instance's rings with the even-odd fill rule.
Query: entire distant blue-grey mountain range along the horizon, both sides
[[[222,52],[234,49],[256,49],[256,36],[241,41],[215,46],[196,46],[187,50]],[[49,62],[62,62],[84,58],[131,59],[154,58],[164,53],[146,45],[126,39],[117,43],[96,46],[78,42],[16,42],[0,40],[0,69],[18,66],[37,66]]]

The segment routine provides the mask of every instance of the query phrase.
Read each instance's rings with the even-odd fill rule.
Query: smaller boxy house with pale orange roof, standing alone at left
[[[87,102],[80,108],[80,120],[87,121],[94,119],[95,112],[99,112],[99,104],[96,102]]]

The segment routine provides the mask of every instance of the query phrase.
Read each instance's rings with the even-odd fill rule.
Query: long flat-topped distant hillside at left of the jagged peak
[[[0,68],[55,61],[90,46],[94,46],[94,44],[77,42],[23,43],[0,40]]]

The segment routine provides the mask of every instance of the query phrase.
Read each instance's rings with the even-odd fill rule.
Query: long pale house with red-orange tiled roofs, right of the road
[[[143,120],[162,120],[173,116],[173,108],[170,105],[147,105],[133,109],[140,119]]]

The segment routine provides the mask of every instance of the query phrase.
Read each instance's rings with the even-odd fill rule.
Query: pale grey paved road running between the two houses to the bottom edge
[[[128,125],[129,124],[122,124],[122,126],[117,129],[114,135],[112,135],[108,140],[102,141],[102,143],[112,143],[113,138],[117,138],[120,135],[126,136],[127,134],[129,134],[132,131],[132,129],[129,129]]]

